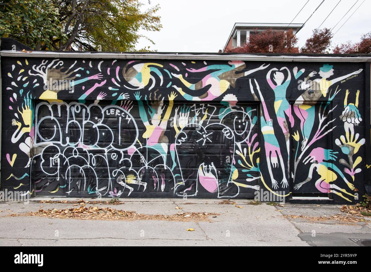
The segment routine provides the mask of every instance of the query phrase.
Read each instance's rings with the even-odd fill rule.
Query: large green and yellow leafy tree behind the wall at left
[[[142,11],[144,4],[139,0],[8,2],[13,4],[3,5],[1,13],[23,9],[23,13],[27,14],[36,8],[43,18],[55,23],[49,24],[49,21],[42,19],[42,27],[49,31],[44,36],[37,35],[36,31],[36,35],[30,37],[29,29],[39,18],[19,20],[14,24],[12,17],[8,16],[3,22],[0,21],[0,35],[7,33],[9,37],[36,50],[133,51],[139,38],[145,37],[138,34],[139,30],[159,31],[162,27],[160,17],[155,15],[160,9],[159,5]],[[44,8],[41,9],[41,6]],[[45,14],[45,10],[53,12]],[[2,24],[9,27],[2,30]],[[153,44],[153,41],[147,40]]]

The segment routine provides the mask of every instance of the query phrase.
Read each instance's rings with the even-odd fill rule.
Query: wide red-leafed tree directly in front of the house
[[[294,47],[298,39],[293,36],[292,29],[283,31],[273,31],[268,29],[258,33],[254,29],[250,34],[249,40],[244,46],[225,49],[229,53],[299,53],[298,48]]]

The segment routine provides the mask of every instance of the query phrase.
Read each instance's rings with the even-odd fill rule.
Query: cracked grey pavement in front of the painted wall
[[[222,199],[120,199],[124,204],[86,204],[137,211],[140,214],[172,215],[184,212],[216,212],[207,221],[89,220],[26,216],[39,209],[72,208],[72,203],[29,204],[0,202],[0,246],[358,246],[349,238],[371,239],[371,218],[364,222],[313,222],[290,215],[331,216],[338,205],[267,204],[234,199],[236,205],[220,204]],[[96,199],[84,199],[84,201]],[[102,199],[106,200],[106,199]],[[175,209],[175,207],[181,209]],[[22,216],[9,216],[18,214]],[[193,228],[194,231],[187,231]]]

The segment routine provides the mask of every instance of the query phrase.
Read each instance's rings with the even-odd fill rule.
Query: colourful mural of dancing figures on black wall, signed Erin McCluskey
[[[2,58],[1,187],[71,197],[363,190],[361,63]]]

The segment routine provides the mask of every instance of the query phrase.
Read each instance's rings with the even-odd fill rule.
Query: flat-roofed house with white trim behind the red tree
[[[262,31],[272,29],[274,31],[288,31],[292,29],[295,34],[304,24],[276,24],[276,23],[235,23],[229,34],[227,43],[223,48],[232,49],[234,47],[244,46],[251,35],[259,34]]]

